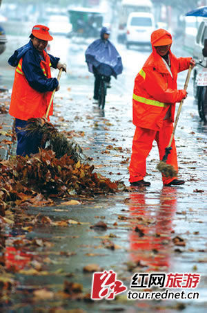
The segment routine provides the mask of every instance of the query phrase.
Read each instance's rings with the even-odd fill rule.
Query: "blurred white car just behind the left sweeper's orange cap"
[[[50,33],[53,35],[65,35],[72,30],[72,24],[69,22],[67,15],[50,15],[48,20]]]

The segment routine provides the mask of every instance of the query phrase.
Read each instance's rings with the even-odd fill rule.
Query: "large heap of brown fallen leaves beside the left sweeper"
[[[55,152],[43,149],[30,158],[14,156],[0,161],[0,215],[9,202],[26,195],[91,197],[124,190],[120,181],[112,182],[93,170],[94,166],[88,163],[76,163],[68,155],[57,159]]]

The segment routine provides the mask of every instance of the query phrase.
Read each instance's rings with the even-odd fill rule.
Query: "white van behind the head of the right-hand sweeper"
[[[130,45],[150,44],[150,35],[155,30],[155,19],[152,13],[132,12],[126,24],[126,48]]]

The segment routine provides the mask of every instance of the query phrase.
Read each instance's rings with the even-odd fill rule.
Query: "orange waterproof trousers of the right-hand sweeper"
[[[146,176],[146,158],[152,149],[152,143],[155,139],[159,149],[159,159],[165,154],[165,148],[168,146],[172,134],[173,124],[169,120],[164,120],[163,126],[159,130],[136,127],[135,136],[132,143],[132,155],[129,166],[130,183],[144,179]],[[167,163],[171,164],[175,170],[177,167],[177,152],[175,140],[172,140],[172,150],[168,155]],[[170,181],[177,177],[162,177],[163,184],[169,184]]]

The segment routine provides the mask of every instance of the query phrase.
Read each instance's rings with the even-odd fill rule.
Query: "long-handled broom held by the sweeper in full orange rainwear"
[[[185,85],[184,85],[184,89],[185,90],[188,87],[188,82],[190,80],[190,73],[191,73],[191,71],[192,71],[192,66],[190,65],[190,67],[188,69],[188,74],[187,74],[187,77],[186,77],[186,82],[185,82]],[[179,104],[179,108],[177,110],[177,116],[175,118],[175,125],[174,125],[174,128],[172,130],[172,134],[171,134],[168,146],[166,147],[166,152],[164,154],[164,157],[157,165],[157,170],[159,170],[159,172],[161,172],[161,174],[163,174],[165,177],[176,177],[177,176],[177,171],[175,170],[175,168],[173,168],[173,166],[170,165],[170,164],[166,164],[166,161],[168,159],[168,155],[170,154],[170,150],[172,150],[172,147],[171,147],[172,139],[174,138],[174,135],[175,135],[175,129],[177,127],[177,122],[178,122],[178,119],[179,119],[179,114],[181,112],[181,107],[182,107],[183,103],[184,103],[184,99],[182,99],[180,104]]]

